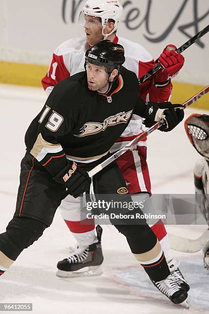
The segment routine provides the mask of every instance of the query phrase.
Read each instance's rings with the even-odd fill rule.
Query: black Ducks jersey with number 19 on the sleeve
[[[86,72],[77,73],[54,87],[26,132],[27,150],[43,166],[56,164],[55,172],[63,166],[65,154],[94,160],[126,129],[134,108],[143,116],[145,104],[134,72],[121,67],[108,94],[89,90]]]

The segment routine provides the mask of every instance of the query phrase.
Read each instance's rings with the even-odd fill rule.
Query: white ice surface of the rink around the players
[[[24,135],[45,103],[38,88],[0,85],[0,233],[12,218],[20,160],[25,154]],[[202,110],[186,109],[185,116]],[[205,112],[206,113],[206,112]],[[208,113],[208,112],[207,112]],[[148,137],[148,163],[153,193],[194,192],[193,166],[199,158],[186,137],[183,124],[169,133],[155,131]],[[197,238],[205,226],[168,226],[172,233]],[[0,279],[0,303],[33,303],[33,313],[185,313],[171,304],[149,281],[132,256],[126,239],[112,226],[103,227],[105,255],[100,277],[59,279],[57,261],[68,256],[74,239],[57,211],[43,237],[20,254]],[[173,253],[191,283],[190,313],[208,312],[209,272],[203,269],[201,252]]]

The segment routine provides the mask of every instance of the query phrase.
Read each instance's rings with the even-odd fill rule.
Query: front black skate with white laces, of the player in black
[[[189,307],[186,302],[188,297],[187,292],[178,285],[175,277],[172,274],[170,274],[164,280],[158,282],[152,280],[152,282],[154,286],[158,288],[158,290],[160,290],[160,292],[168,297],[174,304],[181,304],[185,307]]]

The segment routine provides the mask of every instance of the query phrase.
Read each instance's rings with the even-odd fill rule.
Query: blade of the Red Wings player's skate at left
[[[59,278],[93,277],[103,273],[101,266],[84,267],[76,271],[65,271],[58,269],[56,276]]]

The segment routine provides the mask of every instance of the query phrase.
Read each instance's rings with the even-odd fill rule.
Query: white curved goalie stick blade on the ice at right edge
[[[170,245],[173,250],[187,253],[195,253],[202,249],[209,240],[209,229],[197,239],[186,239],[175,234],[169,234]]]

